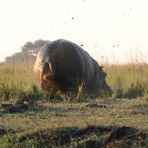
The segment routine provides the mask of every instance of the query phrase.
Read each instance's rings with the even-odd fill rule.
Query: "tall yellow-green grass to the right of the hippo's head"
[[[105,71],[114,97],[148,97],[148,64],[106,65]]]

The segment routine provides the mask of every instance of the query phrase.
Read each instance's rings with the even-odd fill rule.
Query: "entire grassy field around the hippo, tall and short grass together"
[[[111,98],[66,102],[37,89],[32,66],[0,66],[0,147],[148,147],[148,65],[104,70]]]

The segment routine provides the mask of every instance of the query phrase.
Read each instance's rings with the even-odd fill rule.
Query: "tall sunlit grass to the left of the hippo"
[[[0,66],[0,100],[21,99],[37,95],[31,65]]]

